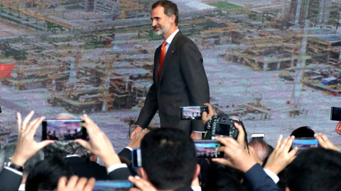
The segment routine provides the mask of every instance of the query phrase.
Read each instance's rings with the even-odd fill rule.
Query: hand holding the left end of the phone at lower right
[[[291,161],[293,161],[295,154],[298,151],[298,148],[295,147],[289,152],[295,137],[286,137],[286,139],[284,139],[281,143],[282,137],[282,135],[278,137],[275,149],[264,166],[264,168],[271,170],[276,175],[278,175],[278,173],[280,173],[284,168],[286,168],[286,166],[288,166],[288,164],[291,163]]]

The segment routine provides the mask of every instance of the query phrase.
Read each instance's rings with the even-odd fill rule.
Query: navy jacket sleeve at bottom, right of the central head
[[[274,180],[257,163],[244,173],[245,178],[255,191],[281,191]]]

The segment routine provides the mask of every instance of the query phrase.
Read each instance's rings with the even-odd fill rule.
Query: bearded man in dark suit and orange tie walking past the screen
[[[151,20],[163,45],[154,56],[153,85],[131,132],[148,127],[158,110],[161,127],[183,129],[188,134],[204,132],[199,120],[180,120],[180,107],[203,105],[210,101],[210,88],[197,46],[178,29],[178,7],[171,1],[157,1],[152,6]],[[197,134],[201,138],[201,134]]]

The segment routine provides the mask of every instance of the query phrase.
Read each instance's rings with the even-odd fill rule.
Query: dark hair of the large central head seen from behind
[[[158,128],[141,141],[142,167],[158,190],[190,187],[196,169],[195,145],[180,129]]]

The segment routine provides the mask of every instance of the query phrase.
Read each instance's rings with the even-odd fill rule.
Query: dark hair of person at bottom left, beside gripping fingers
[[[62,176],[70,178],[73,170],[60,155],[45,158],[34,166],[26,179],[25,190],[55,190]]]

